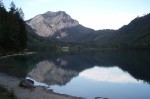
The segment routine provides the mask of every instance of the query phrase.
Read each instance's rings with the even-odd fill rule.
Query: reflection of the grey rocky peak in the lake
[[[55,65],[52,61],[42,61],[32,69],[28,76],[36,81],[44,82],[49,85],[65,85],[72,77],[77,76],[78,72],[65,70]]]

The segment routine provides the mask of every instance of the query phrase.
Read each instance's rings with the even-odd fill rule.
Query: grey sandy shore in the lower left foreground
[[[35,89],[25,89],[19,87],[21,79],[0,73],[0,86],[13,92],[17,99],[84,99],[82,97],[69,96],[65,94],[55,93],[44,87],[36,87]]]

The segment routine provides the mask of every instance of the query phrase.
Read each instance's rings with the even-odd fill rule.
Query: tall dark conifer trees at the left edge
[[[27,33],[23,12],[12,2],[10,11],[0,7],[0,48],[4,51],[22,51],[26,48]]]

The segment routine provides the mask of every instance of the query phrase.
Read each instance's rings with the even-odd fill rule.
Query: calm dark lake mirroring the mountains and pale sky
[[[146,51],[15,56],[0,60],[0,72],[86,99],[150,99],[150,52]]]

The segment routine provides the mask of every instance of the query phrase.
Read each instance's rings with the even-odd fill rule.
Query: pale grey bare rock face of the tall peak
[[[43,37],[51,37],[55,32],[60,32],[57,38],[65,37],[68,34],[61,32],[61,29],[71,28],[79,25],[79,22],[72,19],[64,11],[46,12],[35,16],[26,22],[36,31],[36,33]]]

